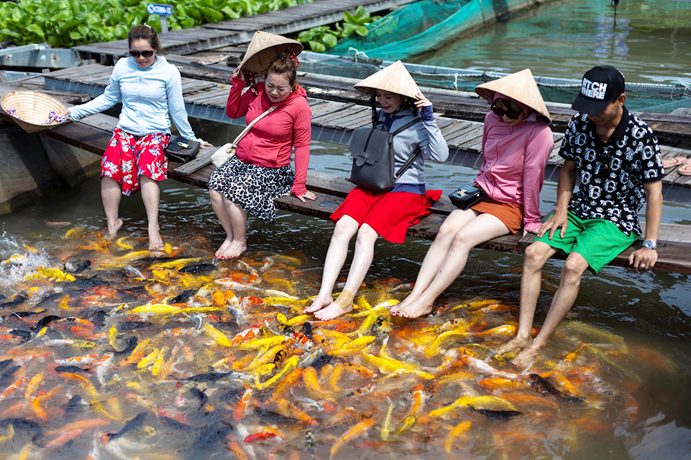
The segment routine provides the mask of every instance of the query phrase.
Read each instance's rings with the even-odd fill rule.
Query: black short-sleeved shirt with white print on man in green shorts
[[[580,219],[605,219],[629,235],[641,234],[638,211],[645,201],[643,183],[662,179],[662,156],[650,126],[624,107],[607,143],[587,114],[576,113],[559,154],[576,161],[580,178],[569,211]]]

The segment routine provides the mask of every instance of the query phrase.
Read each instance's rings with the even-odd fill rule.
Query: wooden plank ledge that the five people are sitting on
[[[1,88],[0,88],[1,90]],[[0,111],[0,117],[12,121],[12,118]],[[112,136],[112,130],[117,119],[104,114],[94,114],[75,123],[66,123],[41,134],[64,141],[88,152],[102,154]],[[180,163],[169,163],[169,177],[192,186],[207,188],[211,172],[214,167],[209,165],[193,174],[179,174],[175,168]],[[328,219],[329,215],[343,202],[343,198],[352,188],[352,184],[343,177],[310,171],[307,173],[307,188],[312,190],[317,199],[302,203],[295,197],[276,199],[276,206],[280,209],[305,214],[307,216]],[[408,229],[408,236],[432,240],[435,238],[444,217],[455,207],[442,197],[433,207],[433,214],[422,219],[417,226]],[[534,239],[533,234],[524,238],[520,235],[500,237],[483,243],[478,248],[491,249],[513,254],[522,254]],[[627,267],[628,257],[632,250],[641,247],[639,239],[634,245],[622,252],[610,265]],[[659,260],[654,270],[659,272],[691,274],[691,226],[663,224],[659,235]]]

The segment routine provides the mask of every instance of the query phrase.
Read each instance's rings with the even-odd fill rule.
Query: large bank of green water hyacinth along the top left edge
[[[124,39],[138,24],[160,32],[158,15],[146,12],[147,0],[19,0],[0,2],[0,41],[17,45],[48,42],[69,47]],[[280,10],[298,0],[176,0],[168,18],[171,30]]]

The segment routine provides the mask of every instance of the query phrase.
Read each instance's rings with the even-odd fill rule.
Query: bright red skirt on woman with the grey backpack
[[[360,225],[368,224],[387,241],[405,243],[408,227],[432,214],[432,205],[441,196],[442,190],[427,190],[423,195],[410,192],[371,192],[356,187],[331,214],[331,219],[336,222],[348,214]]]

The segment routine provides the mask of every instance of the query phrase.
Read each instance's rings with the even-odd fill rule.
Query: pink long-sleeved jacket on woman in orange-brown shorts
[[[553,148],[552,131],[536,113],[513,128],[493,112],[484,117],[482,166],[475,182],[495,201],[522,205],[528,232],[540,226],[540,190]]]

